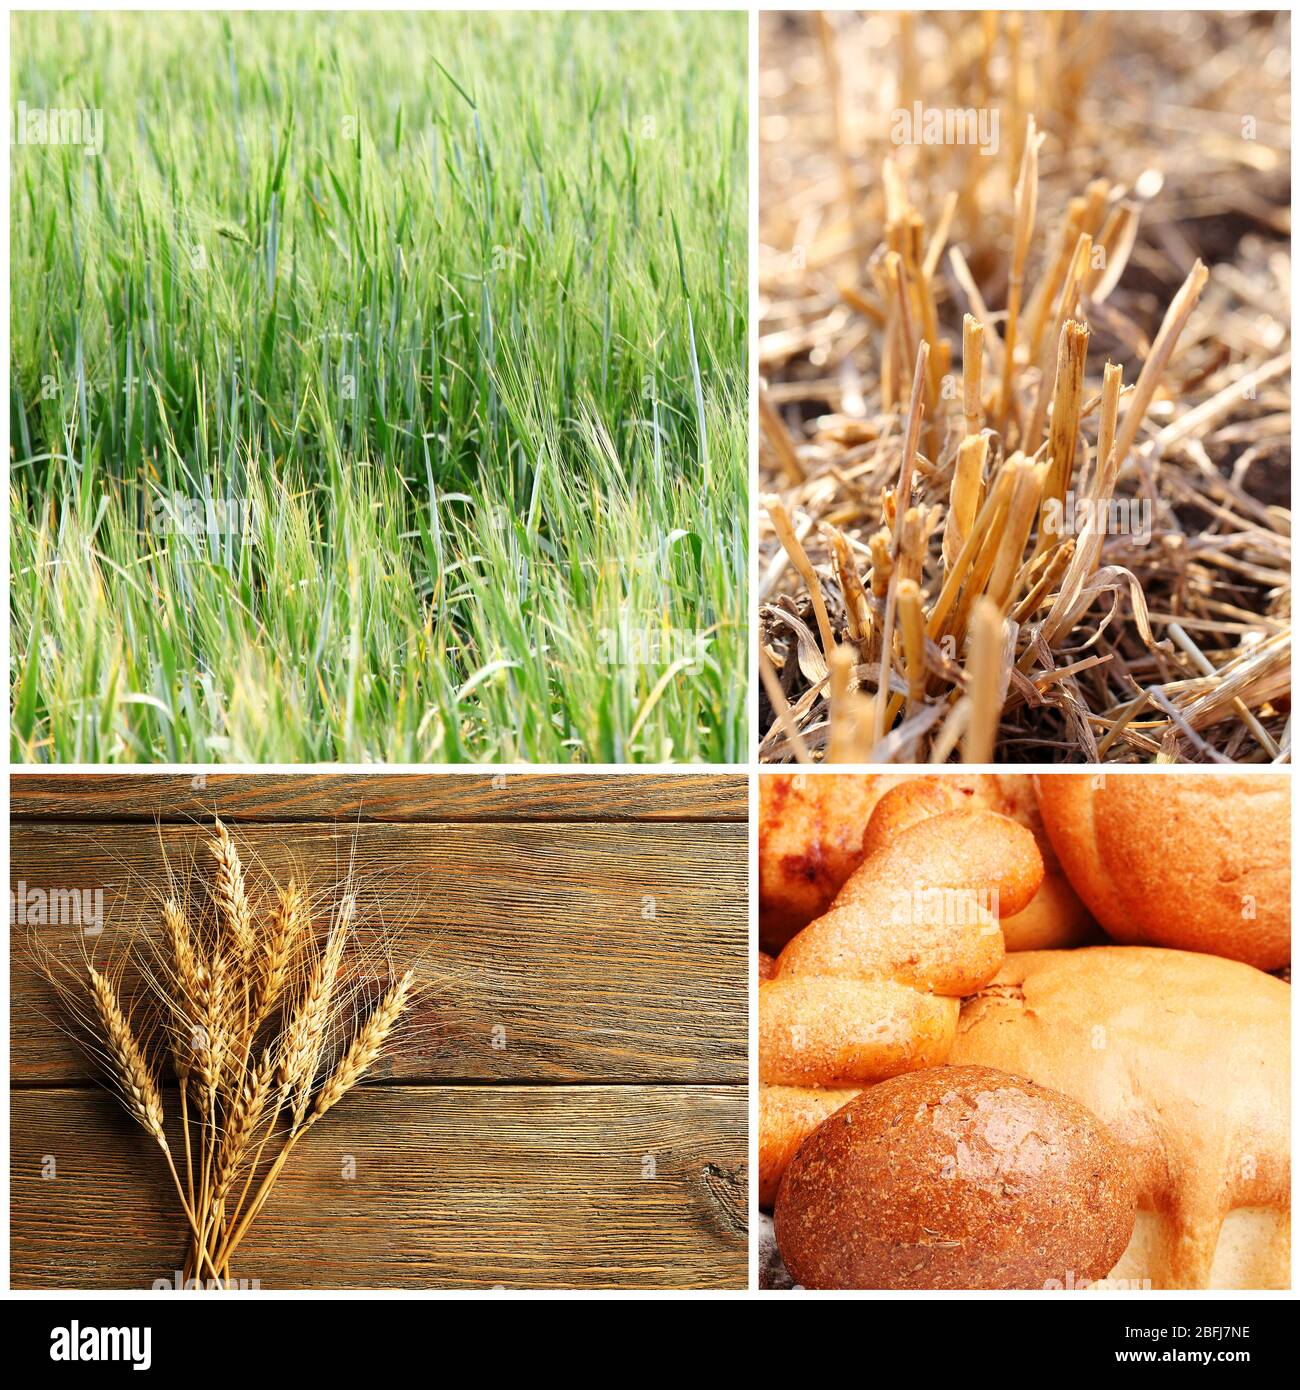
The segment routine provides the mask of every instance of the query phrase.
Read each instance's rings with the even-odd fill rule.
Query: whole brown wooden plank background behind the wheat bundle
[[[254,903],[291,873],[323,905],[352,891],[363,935],[381,930],[425,987],[391,1055],[295,1152],[236,1276],[744,1286],[744,777],[42,773],[13,788],[15,1287],[175,1279],[184,1218],[161,1155],[58,1030],[28,942],[111,959],[157,931],[164,891],[197,908],[213,806]],[[122,984],[129,1001],[139,980]],[[175,1129],[174,1091],[165,1104]]]

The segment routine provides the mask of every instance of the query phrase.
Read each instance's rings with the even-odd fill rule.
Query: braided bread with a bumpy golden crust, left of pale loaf
[[[888,791],[830,910],[759,983],[759,1200],[863,1086],[947,1061],[962,995],[1002,963],[998,926],[1043,878],[1033,835],[950,778]]]

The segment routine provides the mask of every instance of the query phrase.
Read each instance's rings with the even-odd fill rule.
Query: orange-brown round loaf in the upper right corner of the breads
[[[1071,883],[1116,941],[1290,962],[1290,787],[1285,776],[1036,778]]]

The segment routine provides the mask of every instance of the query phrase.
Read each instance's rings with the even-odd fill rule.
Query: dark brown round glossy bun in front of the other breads
[[[776,1198],[805,1289],[1055,1289],[1133,1233],[1125,1154],[1066,1095],[983,1066],[881,1081],[824,1120]]]

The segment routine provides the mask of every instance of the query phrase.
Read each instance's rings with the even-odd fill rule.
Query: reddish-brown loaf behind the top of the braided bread
[[[1029,828],[1039,842],[1044,878],[1037,897],[1002,915],[1008,951],[1075,945],[1097,929],[1061,873],[1039,819],[1033,781],[1019,773],[958,773],[918,777],[854,773],[765,773],[759,777],[759,937],[781,947],[822,916],[862,863],[865,835],[886,792],[911,783],[965,794]],[[891,834],[886,823],[880,835]]]

